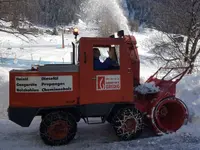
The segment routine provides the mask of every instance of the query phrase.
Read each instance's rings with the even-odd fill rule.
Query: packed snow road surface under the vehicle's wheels
[[[0,145],[2,150],[198,150],[200,136],[192,132],[183,132],[152,138],[140,138],[128,142],[119,142],[109,124],[86,125],[78,124],[75,139],[60,147],[50,147],[43,144],[39,136],[40,118],[36,118],[29,128],[21,128],[7,119],[0,120]],[[194,129],[194,127],[193,127]]]

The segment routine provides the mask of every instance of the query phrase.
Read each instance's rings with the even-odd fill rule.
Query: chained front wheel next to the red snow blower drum
[[[143,116],[136,108],[122,108],[113,117],[113,127],[120,140],[133,140],[142,133]]]

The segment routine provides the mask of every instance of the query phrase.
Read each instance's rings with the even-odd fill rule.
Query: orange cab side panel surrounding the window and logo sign
[[[82,47],[82,45],[84,45]],[[93,70],[93,46],[120,45],[120,70]],[[132,103],[133,74],[130,60],[127,59],[126,44],[123,39],[84,38],[80,40],[80,104]],[[86,57],[86,61],[84,61]],[[120,89],[97,90],[99,75],[120,76]]]

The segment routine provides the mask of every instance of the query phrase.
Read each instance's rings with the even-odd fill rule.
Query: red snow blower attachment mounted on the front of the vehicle
[[[160,68],[144,85],[135,89],[138,92],[137,103],[145,105],[146,116],[156,134],[176,132],[188,119],[186,105],[175,97],[176,84],[188,69]],[[158,75],[162,71],[167,72],[161,74],[160,79]]]

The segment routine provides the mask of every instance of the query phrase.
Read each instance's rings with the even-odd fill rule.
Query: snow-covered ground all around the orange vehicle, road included
[[[96,36],[96,30],[89,28],[83,22],[77,27],[80,37]],[[157,70],[145,61],[148,54],[147,41],[155,36],[155,32],[145,30],[134,33],[138,41],[141,58],[141,78],[147,79]],[[9,100],[8,72],[13,68],[30,68],[31,64],[68,63],[70,61],[71,42],[74,36],[65,34],[66,48],[61,48],[61,35],[40,35],[31,37],[28,43],[7,33],[0,32],[0,51],[3,51],[3,63],[0,64],[0,149],[90,149],[90,150],[132,150],[132,149],[200,149],[200,75],[186,76],[177,88],[177,96],[189,107],[191,120],[177,133],[162,137],[149,137],[129,142],[119,142],[109,124],[86,125],[83,121],[78,124],[78,133],[69,145],[49,147],[43,144],[39,136],[40,118],[35,118],[29,128],[21,128],[7,119]],[[152,44],[152,43],[151,43]]]

